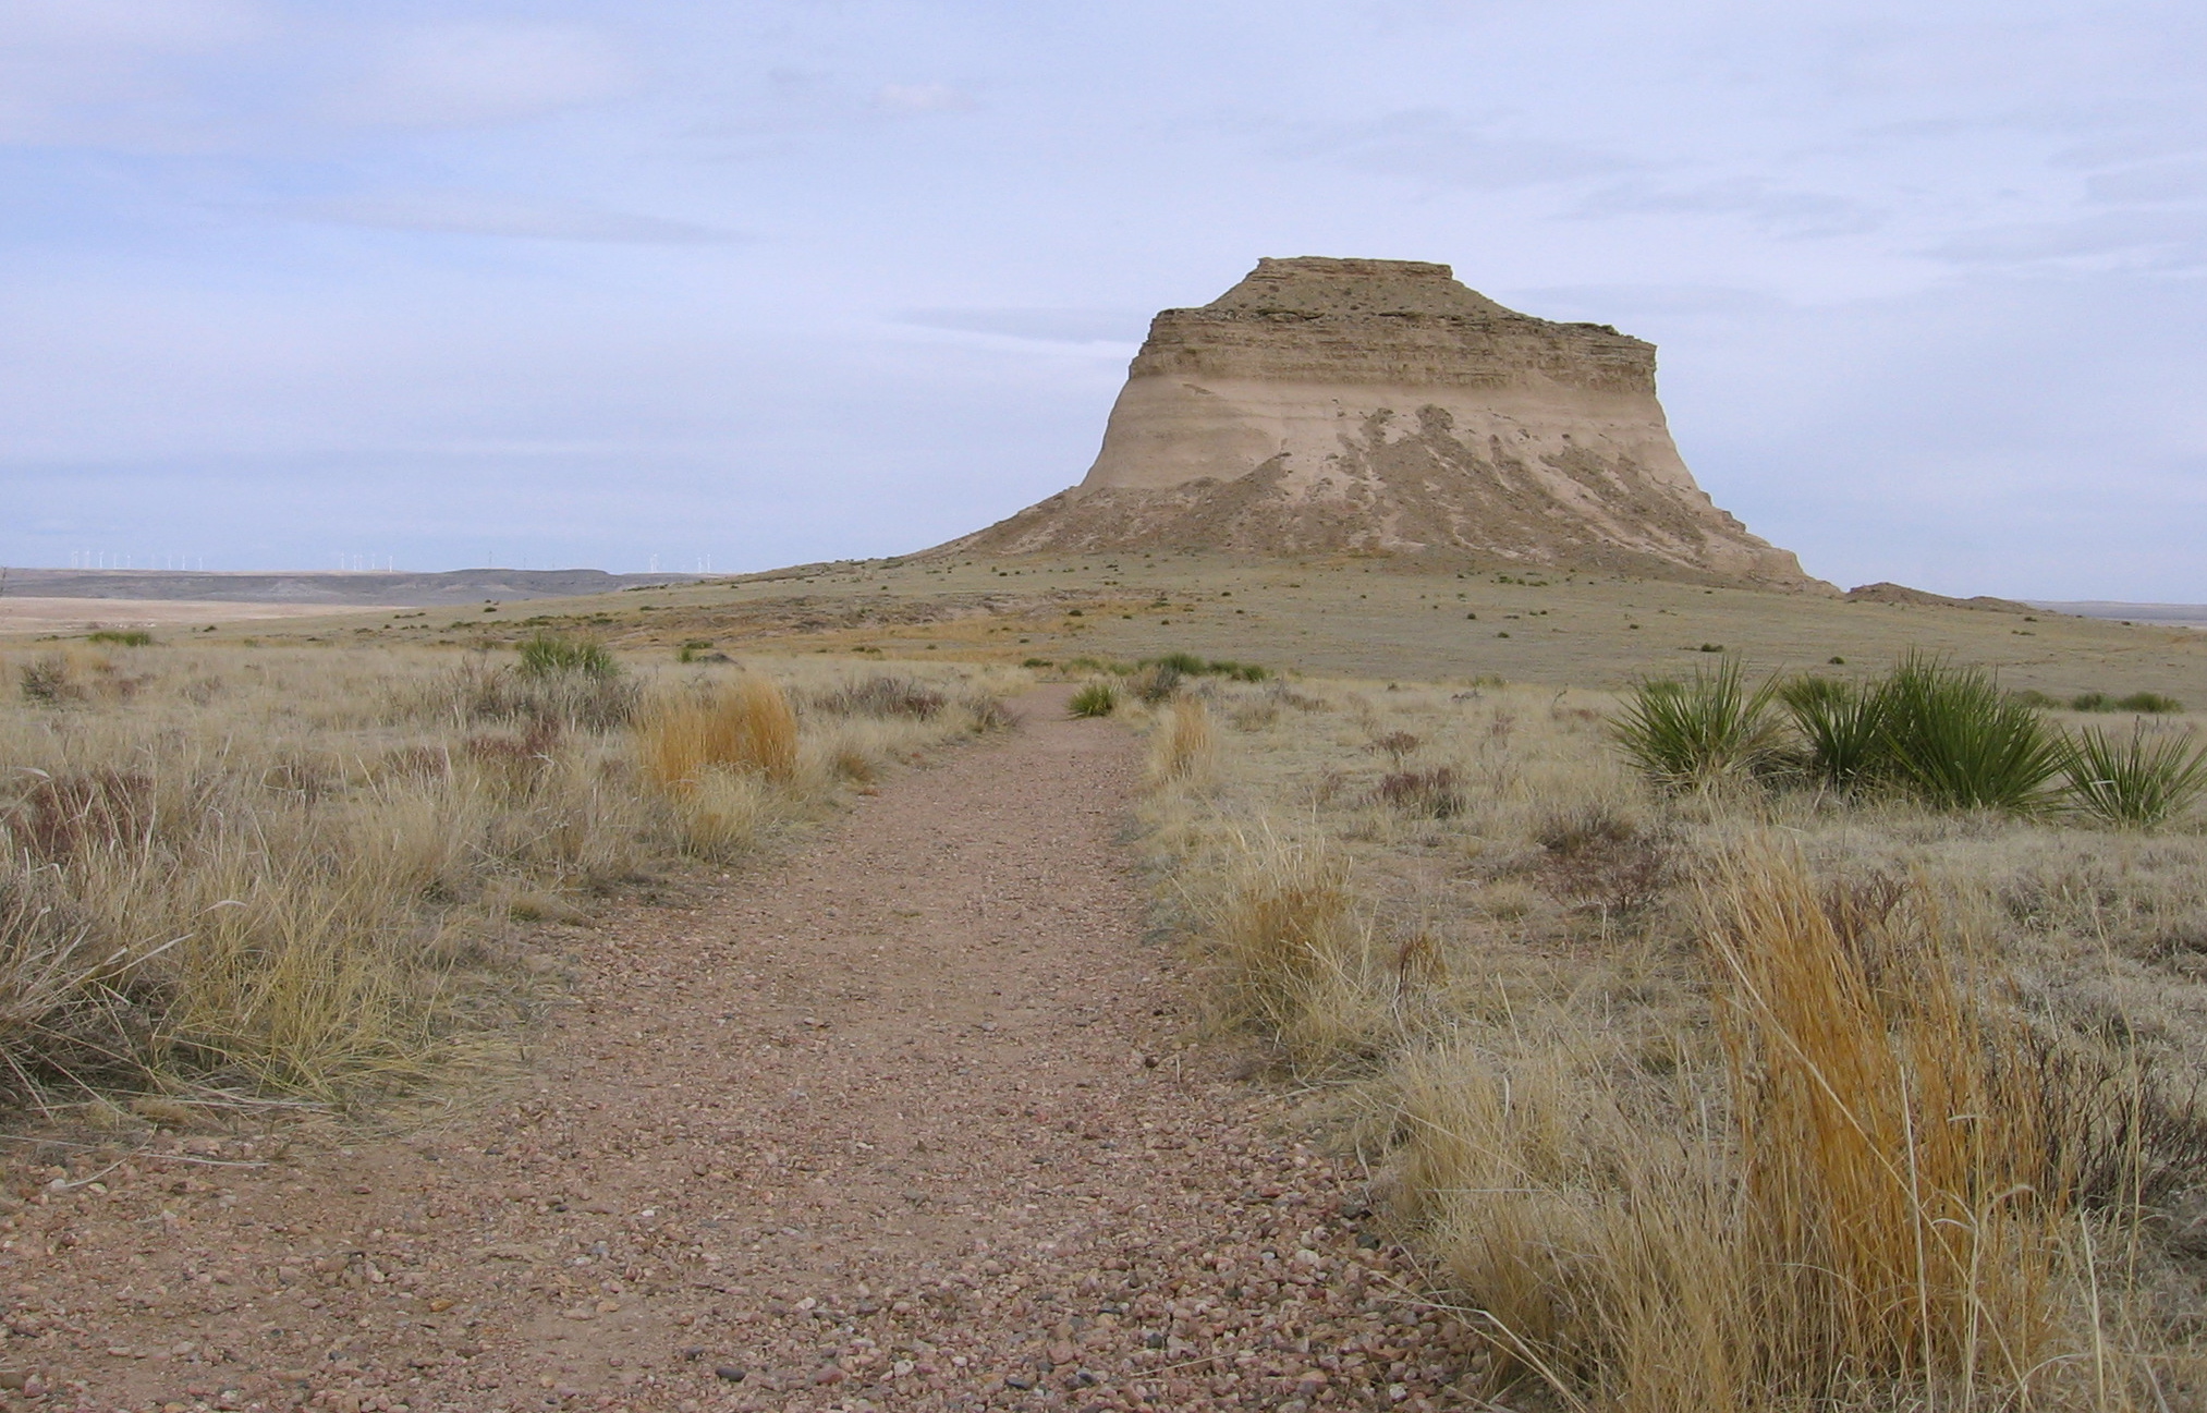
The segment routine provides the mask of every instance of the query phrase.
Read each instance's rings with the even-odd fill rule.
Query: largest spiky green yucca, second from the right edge
[[[2035,810],[2061,771],[2061,735],[1989,671],[1909,654],[1878,687],[1894,779],[1951,810]]]

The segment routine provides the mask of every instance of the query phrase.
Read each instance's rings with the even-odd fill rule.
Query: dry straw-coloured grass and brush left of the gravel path
[[[987,673],[603,647],[0,660],[0,1097],[358,1104],[501,1049],[527,927],[1002,724]]]

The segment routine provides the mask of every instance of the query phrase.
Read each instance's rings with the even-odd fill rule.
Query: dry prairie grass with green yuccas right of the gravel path
[[[2172,786],[2192,724],[1986,687],[1207,680],[1152,718],[1214,1020],[1375,1168],[1479,1393],[2207,1400],[2207,839],[2196,790],[2147,832],[2077,786]]]

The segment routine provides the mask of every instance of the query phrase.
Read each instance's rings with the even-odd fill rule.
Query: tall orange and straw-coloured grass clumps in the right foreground
[[[1397,1066],[1404,1188],[1496,1384],[1569,1406],[2061,1406],[2094,1347],[2019,1027],[1927,932],[1854,932],[1796,859],[1713,874],[1717,1053],[1585,1027]]]

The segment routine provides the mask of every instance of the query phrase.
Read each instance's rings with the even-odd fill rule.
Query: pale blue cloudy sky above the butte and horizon
[[[2207,601],[2207,7],[0,0],[0,563],[755,570],[1446,261],[1841,585]]]

